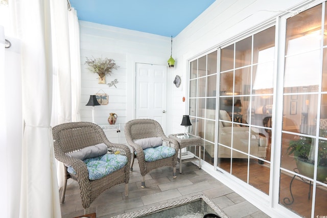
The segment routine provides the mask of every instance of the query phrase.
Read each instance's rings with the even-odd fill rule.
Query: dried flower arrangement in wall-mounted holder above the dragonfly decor
[[[110,58],[86,58],[85,63],[88,69],[99,75],[99,83],[106,83],[106,75],[111,75],[113,69],[118,69],[114,60]]]

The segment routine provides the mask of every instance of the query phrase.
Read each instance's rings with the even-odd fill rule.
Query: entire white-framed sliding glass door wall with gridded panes
[[[326,216],[327,9],[279,18],[190,62],[193,152],[273,209]]]

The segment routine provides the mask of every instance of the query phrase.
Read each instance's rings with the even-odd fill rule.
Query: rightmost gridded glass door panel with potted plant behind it
[[[326,21],[325,4],[286,20],[279,204],[306,217],[327,215]]]

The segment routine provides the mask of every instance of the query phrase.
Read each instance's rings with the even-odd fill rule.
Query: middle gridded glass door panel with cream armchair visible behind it
[[[269,194],[275,27],[221,49],[217,166]]]

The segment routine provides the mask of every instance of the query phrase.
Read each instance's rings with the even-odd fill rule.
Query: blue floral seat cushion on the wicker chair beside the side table
[[[176,150],[167,146],[158,146],[143,150],[146,162],[165,159],[176,154]]]

